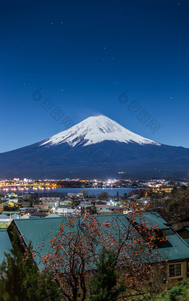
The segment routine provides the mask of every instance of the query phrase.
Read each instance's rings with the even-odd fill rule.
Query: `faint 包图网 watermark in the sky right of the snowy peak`
[[[125,92],[128,92],[128,90],[125,90]],[[123,92],[118,98],[121,104],[126,104],[128,101],[128,97],[127,95],[125,95],[125,92]],[[138,112],[141,106],[137,101],[132,101],[127,108],[132,114],[135,114],[136,112]],[[149,121],[151,115],[147,112],[147,110],[143,109],[140,111],[140,113],[138,113],[136,117],[140,120],[141,123],[144,124]],[[160,128],[160,124],[156,121],[156,119],[153,118],[150,120],[150,122],[147,123],[146,127],[149,127],[152,130],[152,134],[154,134]]]

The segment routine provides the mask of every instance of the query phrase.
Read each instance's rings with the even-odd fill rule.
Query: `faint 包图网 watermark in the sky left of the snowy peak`
[[[33,100],[40,101],[42,99],[42,94],[40,92],[41,89],[42,87],[39,87],[39,89],[37,89],[33,93]],[[45,111],[50,112],[50,115],[52,116],[52,118],[54,118],[54,120],[60,121],[59,124],[64,124],[66,129],[69,129],[71,126],[74,126],[75,123],[70,117],[66,116],[64,119],[62,119],[62,117],[65,115],[64,111],[60,109],[60,107],[56,107],[54,105],[54,102],[49,97],[45,98],[45,100],[41,103],[41,106]]]

